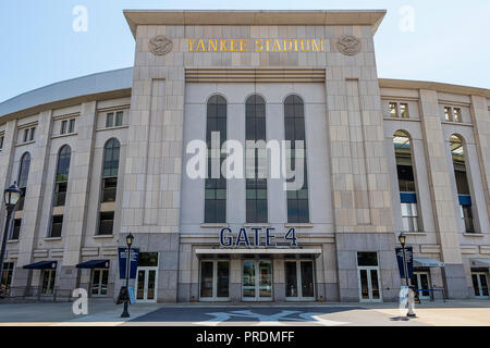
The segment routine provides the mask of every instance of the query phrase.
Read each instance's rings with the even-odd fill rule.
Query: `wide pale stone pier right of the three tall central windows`
[[[383,300],[400,289],[395,235],[380,90],[369,30],[366,52],[354,57],[328,53],[340,66],[327,70],[327,113],[332,171],[339,295],[358,301],[357,252],[377,251]],[[340,34],[339,34],[340,35]]]

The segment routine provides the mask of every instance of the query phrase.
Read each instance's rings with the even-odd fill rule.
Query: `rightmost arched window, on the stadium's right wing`
[[[461,219],[466,233],[475,233],[471,212],[471,196],[468,176],[466,174],[466,156],[463,138],[452,135],[450,138],[451,157],[453,159],[454,178],[456,181],[457,198],[460,200]]]

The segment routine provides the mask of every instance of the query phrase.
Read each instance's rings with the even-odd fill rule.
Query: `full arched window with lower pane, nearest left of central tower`
[[[118,191],[119,154],[121,144],[118,139],[111,138],[103,147],[102,159],[102,195],[99,213],[99,235],[112,235],[114,227],[114,204],[103,204],[115,202]]]

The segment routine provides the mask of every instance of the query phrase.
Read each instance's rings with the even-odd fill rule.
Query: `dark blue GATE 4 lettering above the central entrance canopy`
[[[296,248],[296,229],[286,228],[283,233],[275,228],[249,227],[233,232],[229,227],[220,231],[221,248],[250,248],[250,247],[292,247]]]

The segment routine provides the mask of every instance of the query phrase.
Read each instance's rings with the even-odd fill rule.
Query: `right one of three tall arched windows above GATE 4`
[[[304,185],[298,190],[287,190],[287,222],[309,222],[308,208],[308,179],[306,167],[306,136],[305,136],[305,105],[299,96],[289,96],[284,101],[285,140],[291,141],[291,156],[286,157],[287,166],[295,170],[296,148],[303,141],[304,156]]]

